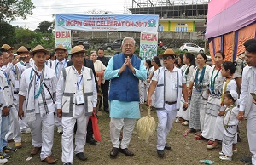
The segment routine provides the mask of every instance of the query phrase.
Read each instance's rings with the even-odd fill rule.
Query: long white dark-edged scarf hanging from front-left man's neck
[[[29,122],[36,120],[35,99],[38,99],[38,106],[41,117],[44,117],[45,114],[49,113],[43,89],[44,77],[47,76],[46,72],[44,72],[44,69],[45,68],[43,68],[41,75],[39,75],[34,70],[34,68],[31,69],[30,83],[28,86],[28,94],[26,101],[26,120]],[[37,86],[38,88],[36,88]]]

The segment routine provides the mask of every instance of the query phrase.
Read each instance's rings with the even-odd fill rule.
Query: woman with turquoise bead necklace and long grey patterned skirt
[[[209,84],[209,71],[211,67],[206,65],[206,54],[197,54],[196,63],[193,77],[189,83],[189,94],[192,92],[190,102],[190,114],[189,114],[189,128],[186,130],[186,134],[190,132],[197,132],[201,135],[205,120],[205,111],[207,108],[207,86]],[[195,139],[200,139],[200,136],[195,136]]]

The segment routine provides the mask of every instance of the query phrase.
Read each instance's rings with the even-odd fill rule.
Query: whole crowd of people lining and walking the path
[[[171,150],[167,136],[172,123],[188,127],[183,136],[194,133],[207,139],[207,149],[222,144],[219,158],[231,161],[239,137],[238,123],[247,117],[247,137],[252,157],[243,162],[256,164],[256,40],[244,43],[245,53],[236,61],[214,54],[214,65],[205,54],[163,54],[143,62],[132,37],[123,39],[119,54],[110,60],[98,48],[89,54],[83,45],[68,53],[59,44],[55,52],[41,45],[32,50],[3,44],[0,51],[0,164],[22,147],[21,133],[31,133],[32,151],[42,162],[54,164],[51,153],[54,130],[62,134],[63,164],[73,156],[85,161],[86,142],[96,145],[90,116],[109,113],[112,158],[119,152],[134,156],[128,149],[143,104],[152,106],[158,117],[156,153],[164,157]],[[68,55],[71,59],[67,60]],[[15,142],[15,148],[8,141]]]

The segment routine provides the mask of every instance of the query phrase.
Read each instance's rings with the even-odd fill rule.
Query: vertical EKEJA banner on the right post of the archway
[[[158,33],[142,32],[140,37],[140,57],[152,60],[157,55]]]

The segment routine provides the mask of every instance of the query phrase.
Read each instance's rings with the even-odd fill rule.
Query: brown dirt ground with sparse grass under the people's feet
[[[143,107],[142,117],[147,115],[146,107]],[[156,154],[156,132],[152,136],[148,143],[139,139],[137,136],[137,130],[134,129],[129,149],[135,153],[135,156],[128,157],[122,153],[119,153],[117,158],[111,159],[109,152],[112,149],[112,144],[109,135],[109,117],[108,113],[100,111],[99,114],[99,127],[102,135],[102,141],[97,145],[88,145],[84,147],[84,153],[88,156],[86,162],[79,161],[74,158],[74,165],[82,164],[123,164],[123,165],[137,165],[137,164],[200,164],[199,160],[209,159],[215,161],[215,164],[243,164],[240,159],[242,156],[250,156],[247,133],[245,130],[246,121],[240,123],[241,139],[242,141],[237,144],[238,153],[233,155],[231,162],[220,161],[218,158],[218,152],[221,151],[221,147],[207,150],[207,141],[195,140],[195,134],[189,134],[183,137],[182,134],[188,127],[182,126],[180,123],[173,123],[171,133],[168,136],[167,142],[172,146],[171,151],[165,151],[165,157],[159,158]],[[152,116],[157,121],[156,112],[152,111]],[[30,134],[22,134],[23,147],[13,153],[13,156],[9,158],[9,165],[29,164],[38,165],[46,164],[40,161],[39,155],[33,156],[31,160],[26,161],[30,157],[30,151],[32,150],[32,139]],[[9,143],[13,146],[13,143]],[[61,162],[61,134],[57,134],[55,130],[54,146],[52,149],[52,156],[58,159],[57,164]]]

